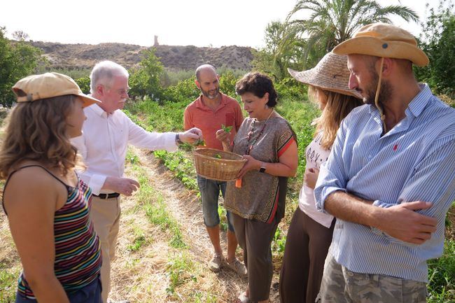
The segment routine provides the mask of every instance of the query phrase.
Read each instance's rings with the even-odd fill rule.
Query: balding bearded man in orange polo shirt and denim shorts
[[[201,95],[185,109],[183,115],[184,128],[191,129],[198,127],[202,130],[202,136],[208,148],[223,150],[221,141],[216,139],[216,131],[221,129],[221,125],[230,126],[231,141],[234,139],[244,117],[241,114],[239,102],[236,99],[226,96],[220,92],[219,76],[214,66],[204,64],[196,69],[197,88],[201,90]],[[209,261],[209,268],[213,272],[219,272],[223,265],[223,250],[220,245],[220,217],[218,216],[218,196],[220,190],[225,196],[226,182],[214,181],[197,176],[202,197],[202,213],[204,213],[204,224],[214,246],[213,258]],[[246,276],[246,267],[235,257],[237,239],[234,234],[234,227],[230,223],[230,213],[228,218],[228,258],[226,263],[239,276]]]

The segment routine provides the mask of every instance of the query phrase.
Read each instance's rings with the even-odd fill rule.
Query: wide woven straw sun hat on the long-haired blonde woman
[[[349,70],[347,68],[347,56],[345,55],[335,55],[333,52],[328,52],[313,69],[307,71],[288,69],[288,72],[295,80],[302,83],[322,90],[348,94],[358,99],[362,98],[356,90],[350,90],[348,87]]]

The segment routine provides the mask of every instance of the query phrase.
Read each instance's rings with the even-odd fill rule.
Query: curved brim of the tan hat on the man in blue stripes
[[[416,66],[429,62],[423,50],[402,41],[384,41],[379,38],[359,36],[339,43],[332,50],[337,55],[370,55],[377,57],[408,59]]]

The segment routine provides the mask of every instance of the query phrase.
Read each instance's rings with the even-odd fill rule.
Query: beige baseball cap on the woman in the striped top
[[[84,107],[101,103],[84,94],[72,78],[62,73],[43,73],[22,78],[13,86],[13,92],[16,94],[18,102],[31,102],[74,94],[82,99]]]

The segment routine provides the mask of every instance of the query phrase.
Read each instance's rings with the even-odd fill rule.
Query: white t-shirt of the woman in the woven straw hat
[[[321,146],[322,134],[318,134],[316,138],[309,143],[305,153],[307,154],[307,168],[320,169],[330,155],[330,149],[326,150]],[[329,228],[332,224],[333,216],[327,213],[322,213],[316,209],[316,201],[314,200],[314,191],[303,183],[299,194],[299,208],[307,214],[309,218],[317,223]]]

